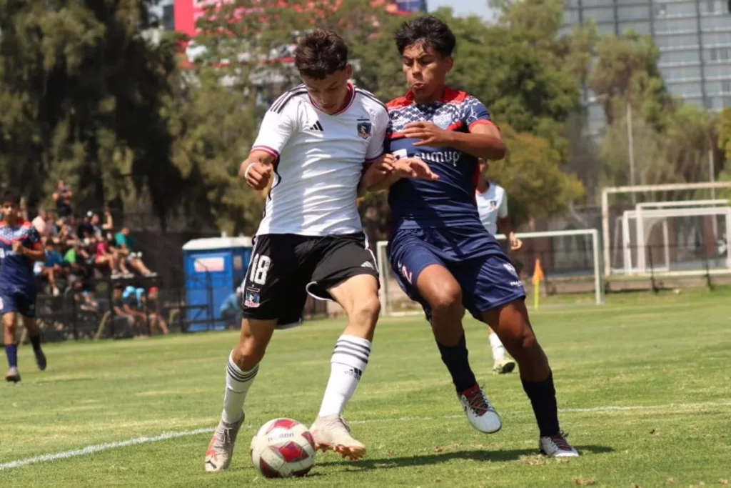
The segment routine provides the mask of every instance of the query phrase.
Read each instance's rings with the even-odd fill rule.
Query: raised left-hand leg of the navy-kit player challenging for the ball
[[[462,316],[462,290],[444,266],[427,266],[417,278],[420,295],[431,308],[431,329],[442,361],[452,375],[452,383],[469,423],[480,432],[493,433],[502,427],[500,416],[485,391],[477,384],[469,365]]]

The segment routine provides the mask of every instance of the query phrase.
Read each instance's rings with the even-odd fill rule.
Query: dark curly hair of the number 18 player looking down
[[[317,29],[298,43],[295,66],[300,75],[322,80],[348,66],[348,46],[335,32]]]

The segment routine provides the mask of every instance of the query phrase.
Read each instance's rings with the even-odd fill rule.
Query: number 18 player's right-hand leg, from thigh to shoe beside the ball
[[[348,326],[333,350],[330,380],[310,432],[320,450],[333,450],[345,458],[360,459],[366,454],[366,446],[352,438],[342,413],[355,394],[371,354],[371,341],[381,312],[378,280],[370,274],[360,274],[328,292],[345,310]]]

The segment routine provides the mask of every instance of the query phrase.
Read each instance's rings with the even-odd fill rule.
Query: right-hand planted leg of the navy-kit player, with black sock
[[[525,302],[512,301],[482,316],[499,335],[510,355],[518,361],[520,380],[533,407],[540,430],[539,446],[551,457],[574,457],[578,452],[566,440],[558,424],[558,405],[548,358],[538,343]]]

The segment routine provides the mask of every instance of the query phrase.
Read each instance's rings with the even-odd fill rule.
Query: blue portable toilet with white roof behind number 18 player
[[[251,237],[193,239],[183,245],[188,331],[222,330],[221,304],[249,267]]]

